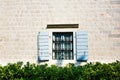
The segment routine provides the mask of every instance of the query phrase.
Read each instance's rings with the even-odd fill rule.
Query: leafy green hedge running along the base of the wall
[[[0,80],[120,80],[120,61],[99,62],[65,67],[35,65],[22,62],[0,66]]]

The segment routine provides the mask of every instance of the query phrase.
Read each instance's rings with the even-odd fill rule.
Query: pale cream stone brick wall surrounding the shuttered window
[[[88,62],[120,60],[119,0],[0,0],[0,64],[37,63],[37,34],[47,24],[87,31]]]

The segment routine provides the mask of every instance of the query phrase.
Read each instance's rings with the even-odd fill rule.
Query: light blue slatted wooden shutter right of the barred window
[[[88,33],[76,32],[76,59],[86,61],[88,59]]]

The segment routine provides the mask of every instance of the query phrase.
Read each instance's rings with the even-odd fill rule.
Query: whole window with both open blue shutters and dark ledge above
[[[49,24],[47,29],[53,29],[52,31],[55,32],[40,31],[38,33],[38,61],[51,61],[51,58],[52,60],[87,61],[88,32],[79,31],[79,29],[74,31],[73,28],[77,29],[78,24]],[[66,29],[66,31],[71,29],[71,31],[57,32],[60,31],[59,29]]]

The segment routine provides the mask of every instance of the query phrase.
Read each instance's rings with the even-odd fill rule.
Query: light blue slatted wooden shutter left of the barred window
[[[38,33],[38,61],[49,60],[49,33]]]

